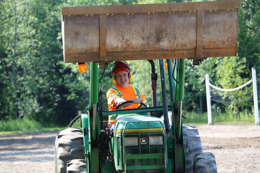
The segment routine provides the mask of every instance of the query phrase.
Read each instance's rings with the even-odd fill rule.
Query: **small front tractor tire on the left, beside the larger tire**
[[[74,159],[68,161],[67,173],[87,173],[86,160]]]

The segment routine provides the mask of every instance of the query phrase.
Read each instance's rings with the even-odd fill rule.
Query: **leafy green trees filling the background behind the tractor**
[[[76,64],[64,64],[62,61],[61,7],[166,2],[180,0],[0,1],[0,120],[26,118],[34,119],[43,126],[64,125],[77,114],[86,113],[90,73],[79,74]],[[214,85],[234,88],[250,80],[251,67],[255,67],[257,85],[260,86],[259,3],[257,0],[242,1],[237,58],[206,59],[198,67],[186,60],[185,111],[199,112],[200,101],[202,112],[206,111],[206,73]],[[129,65],[133,70],[132,84],[142,90],[151,105],[150,65],[147,61],[133,61]],[[104,109],[107,109],[106,91],[113,85],[111,68],[112,64],[102,80]],[[168,75],[167,71],[165,75]],[[169,92],[169,88],[166,90]],[[160,87],[157,92],[160,93]],[[237,93],[237,97],[242,99],[243,93]],[[160,100],[158,96],[158,103]],[[232,112],[235,106],[250,110],[250,105],[252,103],[245,102],[229,108],[216,104],[213,108]]]

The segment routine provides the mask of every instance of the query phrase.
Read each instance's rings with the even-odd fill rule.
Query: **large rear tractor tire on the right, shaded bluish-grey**
[[[198,129],[195,126],[183,125],[182,127],[183,146],[186,147],[186,141],[188,142],[188,152],[185,154],[186,173],[192,173],[195,154],[203,152],[202,143],[198,134]]]

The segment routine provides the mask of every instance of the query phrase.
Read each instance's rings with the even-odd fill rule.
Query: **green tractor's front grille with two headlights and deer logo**
[[[161,122],[161,128],[149,128],[149,123],[146,122],[148,129],[140,129],[140,123],[145,122],[127,122],[138,123],[139,129],[127,129],[127,123],[125,129],[120,131],[121,136],[121,166],[127,173],[138,172],[161,172],[167,165],[167,152],[166,152],[166,135]],[[130,134],[129,132],[132,132]],[[127,138],[135,138],[133,142],[134,146],[125,145]],[[157,143],[152,138],[160,138],[161,142]],[[137,141],[138,140],[138,141]]]

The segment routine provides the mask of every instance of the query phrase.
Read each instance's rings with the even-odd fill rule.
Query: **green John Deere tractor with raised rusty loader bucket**
[[[236,56],[240,6],[232,0],[62,7],[64,62],[78,63],[80,70],[90,63],[90,98],[88,113],[57,133],[55,172],[217,172],[198,129],[182,124],[185,58],[199,65],[207,57]],[[126,60],[150,63],[152,104],[103,110],[103,74],[111,70],[109,63]],[[157,83],[162,106],[157,106]],[[116,116],[110,141],[109,116]],[[81,128],[72,127],[77,119]]]

